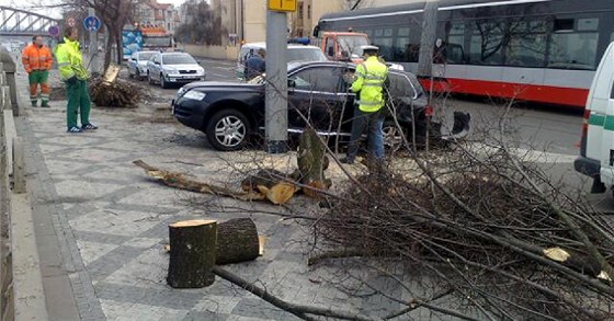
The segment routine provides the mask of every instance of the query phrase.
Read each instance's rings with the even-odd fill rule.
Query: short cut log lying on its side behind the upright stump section
[[[215,264],[253,261],[260,255],[260,239],[250,218],[235,218],[217,225]]]

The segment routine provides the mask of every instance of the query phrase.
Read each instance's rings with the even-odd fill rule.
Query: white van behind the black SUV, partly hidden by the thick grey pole
[[[245,78],[246,60],[255,55],[259,49],[266,50],[266,43],[249,43],[241,46],[239,57],[237,58],[237,78],[242,80]],[[309,61],[327,61],[328,58],[322,54],[322,50],[316,46],[306,46],[298,44],[288,44],[286,51],[286,61],[293,62],[309,62]]]

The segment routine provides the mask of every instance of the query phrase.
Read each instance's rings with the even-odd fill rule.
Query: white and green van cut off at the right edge
[[[614,43],[603,55],[589,92],[580,157],[573,167],[593,179],[591,193],[614,187]]]

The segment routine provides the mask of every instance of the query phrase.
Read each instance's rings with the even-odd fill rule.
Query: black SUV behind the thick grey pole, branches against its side
[[[355,94],[350,92],[354,69],[355,65],[333,61],[289,66],[288,131],[302,133],[309,123],[320,135],[348,140],[355,108]],[[400,140],[393,115],[402,126],[410,126],[412,117],[420,124],[430,117],[424,91],[413,74],[390,69],[388,78],[388,106],[394,107],[386,108],[387,145]],[[214,148],[238,150],[264,129],[264,87],[263,79],[190,83],[178,91],[173,115],[183,125],[204,131]]]

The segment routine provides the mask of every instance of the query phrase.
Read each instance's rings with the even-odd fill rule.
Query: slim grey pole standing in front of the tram
[[[433,51],[437,37],[439,5],[439,0],[429,0],[424,5],[420,57],[418,62],[418,77],[420,78],[429,78],[433,73]]]

